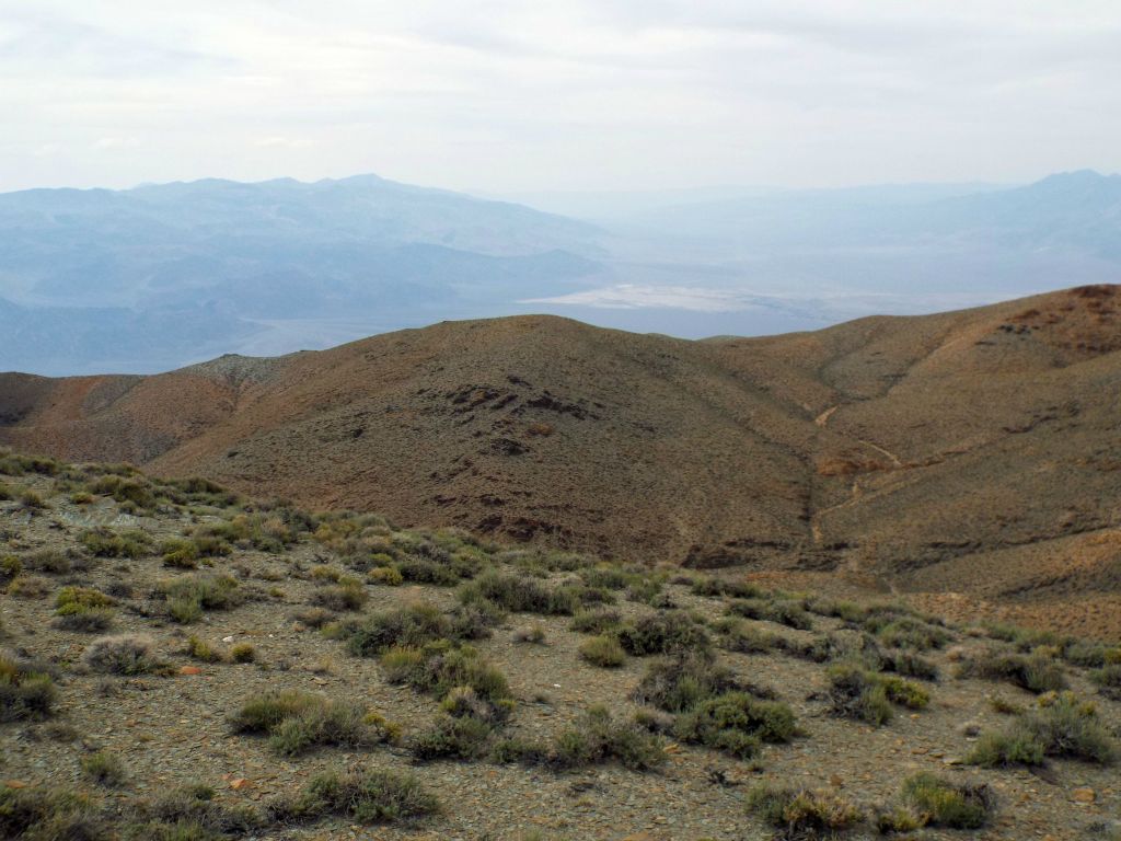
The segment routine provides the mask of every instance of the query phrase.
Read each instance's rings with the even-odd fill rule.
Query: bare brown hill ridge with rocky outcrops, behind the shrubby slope
[[[2,375],[0,443],[1112,634],[1119,307],[1082,287],[706,342],[526,316],[154,377]]]

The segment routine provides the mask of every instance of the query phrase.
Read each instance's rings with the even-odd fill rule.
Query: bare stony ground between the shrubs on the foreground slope
[[[547,560],[555,556],[478,546],[462,535],[399,533],[371,518],[362,520],[361,530],[353,533],[339,525],[350,521],[346,519],[335,519],[327,527],[308,520],[308,528],[300,530],[290,523],[279,523],[288,515],[281,516],[277,509],[247,507],[244,500],[223,499],[212,490],[168,490],[173,496],[180,493],[176,502],[161,497],[159,487],[142,478],[126,475],[106,482],[101,469],[44,468],[40,472],[9,459],[7,470],[18,474],[0,475],[0,488],[9,497],[0,501],[0,558],[8,558],[2,573],[7,592],[0,594],[0,646],[12,662],[37,662],[40,665],[36,668],[49,669],[57,696],[41,714],[26,710],[11,713],[9,709],[4,718],[13,720],[0,723],[0,778],[9,798],[61,788],[87,793],[90,808],[108,821],[105,838],[129,832],[168,839],[238,834],[258,839],[814,838],[818,835],[812,828],[795,828],[784,835],[781,828],[767,825],[749,812],[750,792],[767,785],[824,791],[871,815],[877,808],[900,804],[902,780],[918,771],[933,771],[954,784],[988,785],[995,806],[983,829],[927,825],[911,833],[915,838],[1057,840],[1118,838],[1121,832],[1121,784],[1115,765],[1055,757],[1032,767],[967,764],[979,734],[1000,731],[1030,714],[1022,711],[1037,708],[1040,697],[1044,704],[1054,697],[1007,681],[955,676],[962,664],[993,646],[1008,653],[1035,649],[1038,656],[1053,658],[1069,690],[1096,706],[1096,720],[1115,745],[1121,702],[1092,680],[1092,668],[1072,662],[1080,657],[1062,654],[1074,650],[1071,640],[1032,639],[1028,635],[998,641],[994,635],[1015,635],[1007,629],[961,625],[943,629],[939,632],[945,639],[936,647],[911,651],[938,672],[936,681],[912,681],[926,688],[929,702],[915,710],[895,705],[890,721],[877,726],[839,717],[831,703],[828,668],[859,646],[846,649],[849,655],[833,651],[822,662],[805,654],[815,641],[861,636],[859,621],[825,614],[831,612],[827,601],[773,594],[748,599],[765,607],[793,602],[810,609],[799,611],[793,622],[741,619],[741,634],[762,635],[768,641],[757,646],[767,650],[739,653],[730,650],[736,646],[728,641],[729,626],[721,625],[736,601],[734,593],[701,594],[705,586],[698,582],[708,580],[700,574],[628,570],[623,586],[609,588],[606,594],[599,591],[595,597],[617,602],[611,609],[618,611],[623,627],[643,617],[692,613],[697,627],[715,643],[715,663],[726,666],[752,691],[767,694],[766,690],[771,690],[775,700],[788,705],[796,717],[797,734],[738,758],[691,743],[670,729],[651,736],[666,761],[649,770],[631,770],[610,758],[566,767],[548,760],[503,764],[488,756],[420,760],[411,739],[443,715],[437,700],[408,685],[390,683],[382,662],[349,654],[340,626],[328,621],[326,632],[311,627],[324,617],[307,611],[326,603],[330,619],[343,622],[417,602],[454,612],[462,601],[462,588],[478,576],[476,570],[462,575],[463,583],[452,585],[409,580],[387,585],[377,583],[386,581],[385,575],[371,571],[392,565],[407,576],[410,571],[414,577],[423,576],[410,557],[442,557],[426,548],[433,545],[451,551],[453,557],[472,557],[472,563],[532,577],[549,588],[591,582],[590,575],[581,579],[582,570],[615,567],[597,567],[594,560],[583,558],[566,562],[572,566],[568,571],[549,570],[559,565]],[[130,482],[145,489],[147,496],[129,490]],[[231,521],[251,525],[240,537],[226,533],[230,554],[183,562],[179,569],[169,566],[178,562],[169,561],[174,544],[168,540],[193,540],[207,527],[221,530]],[[137,532],[147,535],[148,542],[137,537]],[[98,543],[91,534],[102,538],[131,536],[129,539],[141,545],[133,551],[126,542],[123,548],[113,549],[109,544],[106,549],[106,542]],[[262,539],[262,534],[269,539]],[[277,535],[279,543],[269,545]],[[114,552],[124,556],[106,556]],[[373,566],[362,570],[368,566],[359,562],[362,557],[374,558]],[[192,563],[197,569],[183,569]],[[205,608],[193,621],[176,621],[163,582],[210,574],[232,576],[242,603],[229,609]],[[340,576],[341,584],[335,580]],[[742,584],[744,576],[725,573],[725,577],[734,586]],[[90,620],[101,627],[59,627],[59,593],[74,585],[95,589],[112,600],[100,619]],[[362,602],[354,604],[356,610],[333,609],[346,607],[324,595],[339,586],[361,593],[355,597]],[[714,589],[708,586],[708,591]],[[585,593],[584,598],[592,597]],[[643,710],[633,700],[634,690],[651,664],[679,654],[628,655],[612,668],[592,665],[580,653],[590,635],[572,630],[572,621],[566,614],[508,611],[489,629],[488,638],[471,641],[481,657],[506,676],[515,702],[509,723],[492,738],[552,743],[566,728],[584,727],[583,717],[595,704],[609,708],[620,721],[628,720]],[[926,619],[915,621],[924,629],[941,628]],[[794,628],[791,623],[809,627]],[[530,629],[537,629],[540,641],[521,640],[532,636]],[[124,634],[148,637],[159,666],[133,675],[99,673],[87,656],[94,640]],[[224,654],[224,659],[205,662],[191,656],[191,636]],[[241,644],[252,646],[252,662],[230,662],[230,653]],[[888,645],[882,635],[879,645],[888,655],[907,648]],[[798,650],[803,653],[795,654]],[[1103,656],[1112,655],[1105,649]],[[234,731],[230,718],[247,701],[289,688],[360,703],[399,724],[401,734],[388,745],[325,745],[296,756],[278,756],[265,738]],[[652,715],[649,708],[646,712]],[[114,757],[120,779],[99,784],[86,767],[92,755]],[[370,825],[353,815],[305,822],[267,820],[229,834],[213,834],[213,828],[203,828],[212,834],[203,830],[202,834],[189,834],[182,828],[177,831],[184,834],[158,834],[151,826],[141,831],[130,824],[137,804],[157,801],[188,783],[213,787],[214,802],[220,805],[249,805],[265,814],[268,804],[295,795],[316,774],[350,768],[415,775],[438,798],[441,808],[414,821]],[[2,803],[0,821],[4,820]],[[167,828],[158,832],[165,830],[172,832]],[[34,825],[19,831],[28,838],[78,837],[41,834],[46,830]],[[846,833],[850,838],[877,837],[871,817]],[[825,835],[822,830],[819,837]]]

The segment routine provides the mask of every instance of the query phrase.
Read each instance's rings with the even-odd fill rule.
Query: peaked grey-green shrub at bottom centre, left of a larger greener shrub
[[[634,722],[615,720],[605,706],[592,706],[580,723],[562,731],[550,761],[562,768],[611,760],[631,770],[656,768],[666,760],[661,739]]]

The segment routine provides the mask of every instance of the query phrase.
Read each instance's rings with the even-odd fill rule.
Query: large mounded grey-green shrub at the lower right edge
[[[1069,692],[1045,695],[1040,702],[1003,732],[983,734],[969,761],[985,767],[1041,765],[1045,757],[1113,761],[1117,747],[1092,703]]]

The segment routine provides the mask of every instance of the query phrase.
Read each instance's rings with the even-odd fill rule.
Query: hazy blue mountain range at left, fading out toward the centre
[[[432,320],[436,304],[562,294],[600,270],[600,235],[377,176],[3,194],[0,368],[157,370],[260,321],[367,316],[369,332],[387,309]]]

